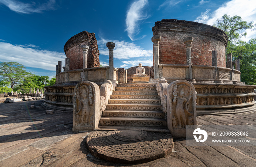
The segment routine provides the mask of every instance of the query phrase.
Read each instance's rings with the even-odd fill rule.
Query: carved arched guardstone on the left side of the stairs
[[[99,125],[99,87],[89,81],[82,81],[75,86],[73,131],[94,130]]]

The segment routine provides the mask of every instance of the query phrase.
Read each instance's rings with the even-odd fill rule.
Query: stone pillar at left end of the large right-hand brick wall
[[[155,35],[151,38],[153,44],[153,54],[154,54],[154,79],[159,78],[159,41],[161,41],[160,35]]]

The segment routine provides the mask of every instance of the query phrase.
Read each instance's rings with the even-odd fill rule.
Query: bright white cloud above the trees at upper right
[[[206,11],[207,12],[207,11]],[[210,13],[202,13],[202,19],[199,17],[194,20],[195,22],[205,23],[208,25],[212,25],[216,23],[217,19],[221,19],[221,17],[225,14],[233,17],[235,15],[241,16],[244,21],[256,23],[256,5],[255,0],[231,0],[219,7],[214,12]],[[205,14],[206,13],[206,14]],[[207,18],[208,19],[204,19]],[[242,40],[248,41],[250,38],[256,37],[255,30],[246,30],[247,37],[243,37]]]

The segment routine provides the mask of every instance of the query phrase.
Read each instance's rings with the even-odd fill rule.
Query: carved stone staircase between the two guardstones
[[[99,129],[167,129],[155,84],[118,84],[100,119]]]

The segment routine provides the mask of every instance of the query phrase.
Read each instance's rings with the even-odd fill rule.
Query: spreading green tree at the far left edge
[[[23,65],[18,62],[1,62],[0,63],[0,79],[10,83],[12,90],[15,84],[19,84],[23,79],[31,76],[31,72],[27,72]]]

